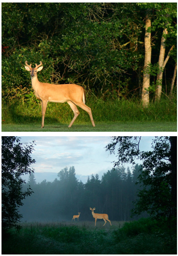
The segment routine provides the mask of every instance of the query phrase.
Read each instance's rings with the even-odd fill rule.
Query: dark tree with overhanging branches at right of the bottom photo
[[[136,200],[134,214],[147,211],[152,217],[168,218],[177,214],[177,137],[156,137],[152,142],[152,151],[140,151],[141,137],[112,137],[112,143],[106,150],[114,153],[118,146],[118,161],[135,163],[135,159],[143,161],[143,170],[138,176],[142,183],[139,199]]]

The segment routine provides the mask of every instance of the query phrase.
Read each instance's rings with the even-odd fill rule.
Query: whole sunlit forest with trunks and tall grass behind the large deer
[[[40,118],[26,60],[39,81],[82,86],[96,121],[177,120],[176,2],[4,2],[1,51],[4,124]],[[50,103],[46,120],[72,115]]]

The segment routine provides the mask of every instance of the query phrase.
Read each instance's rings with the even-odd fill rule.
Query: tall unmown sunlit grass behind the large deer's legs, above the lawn
[[[30,97],[5,102],[2,100],[2,119],[5,123],[41,122],[41,104],[31,93]],[[162,99],[160,103],[151,103],[143,108],[140,101],[118,100],[117,98],[96,98],[89,96],[87,103],[92,109],[95,121],[177,121],[177,100]],[[81,108],[75,123],[90,122],[89,115]],[[45,124],[70,123],[73,112],[67,103],[47,105]]]

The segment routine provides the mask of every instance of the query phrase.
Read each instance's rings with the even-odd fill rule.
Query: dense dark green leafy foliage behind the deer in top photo
[[[3,99],[19,99],[30,88],[25,60],[32,65],[42,61],[39,81],[78,83],[97,96],[100,92],[118,91],[120,98],[128,98],[139,87],[136,71],[144,65],[143,9],[153,10],[157,41],[161,38],[160,27],[168,23],[169,44],[176,46],[175,6],[176,3],[2,3]],[[153,48],[158,56],[158,43]],[[167,75],[170,79],[172,73]]]

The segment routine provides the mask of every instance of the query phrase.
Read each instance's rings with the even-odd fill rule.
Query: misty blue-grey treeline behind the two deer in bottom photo
[[[79,212],[79,220],[92,221],[90,207],[95,207],[96,213],[107,213],[110,220],[135,220],[137,217],[131,218],[131,210],[140,188],[136,181],[141,171],[138,164],[132,173],[122,166],[104,173],[101,180],[98,174],[92,175],[86,184],[77,180],[73,166],[62,169],[57,174],[59,179],[53,182],[44,180],[36,184],[31,173],[23,187],[26,190],[30,186],[34,193],[19,208],[22,221],[70,221]]]

